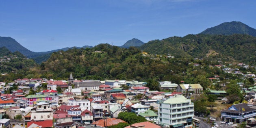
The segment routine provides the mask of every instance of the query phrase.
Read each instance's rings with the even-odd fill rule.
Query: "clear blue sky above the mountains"
[[[256,28],[256,0],[0,0],[0,36],[34,52],[197,34],[223,22]]]

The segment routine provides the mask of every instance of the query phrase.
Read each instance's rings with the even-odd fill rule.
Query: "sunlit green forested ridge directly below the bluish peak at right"
[[[219,61],[241,61],[256,64],[256,37],[250,35],[187,35],[154,40],[140,47],[151,54],[175,57],[216,58]],[[214,54],[211,54],[214,53]]]

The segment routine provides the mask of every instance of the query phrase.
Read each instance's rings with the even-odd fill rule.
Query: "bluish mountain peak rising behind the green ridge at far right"
[[[207,28],[200,34],[205,35],[232,35],[232,34],[246,34],[256,37],[256,29],[249,27],[242,22],[224,22],[218,26]]]

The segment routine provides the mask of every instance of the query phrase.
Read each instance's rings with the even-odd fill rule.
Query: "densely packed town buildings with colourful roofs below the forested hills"
[[[117,119],[121,112],[135,113],[150,121],[126,128],[189,128],[193,126],[194,117],[190,96],[203,93],[200,84],[178,85],[164,81],[159,82],[159,86],[173,92],[159,92],[145,87],[146,82],[74,80],[72,74],[68,81],[24,78],[15,82],[23,86],[18,86],[11,94],[0,95],[0,128],[104,128],[125,122]],[[47,83],[47,90],[26,95],[43,82]],[[122,85],[129,89],[122,89]],[[1,87],[4,91],[11,85],[1,82]],[[58,88],[63,92],[58,93]],[[253,91],[254,88],[248,92],[249,99],[256,99],[256,91]],[[144,98],[135,100],[138,94]],[[256,103],[252,100],[250,104]],[[236,104],[221,111],[222,120],[238,123],[253,116],[256,116],[256,109],[247,104]]]

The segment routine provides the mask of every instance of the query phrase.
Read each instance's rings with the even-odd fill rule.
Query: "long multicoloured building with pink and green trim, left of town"
[[[18,101],[17,106],[21,108],[26,108],[28,106],[33,107],[37,102],[46,101],[51,104],[58,104],[59,96],[58,95],[28,95],[22,100]]]

